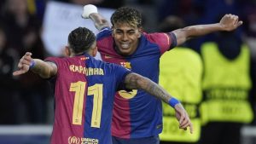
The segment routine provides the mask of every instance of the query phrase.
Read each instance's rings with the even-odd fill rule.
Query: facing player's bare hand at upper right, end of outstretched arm
[[[219,21],[219,24],[222,26],[224,31],[233,31],[238,26],[241,26],[242,21],[239,20],[237,15],[234,14],[225,14],[224,17]]]

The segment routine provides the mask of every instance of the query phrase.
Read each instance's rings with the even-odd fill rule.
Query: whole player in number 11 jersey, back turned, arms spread
[[[96,37],[87,28],[73,30],[65,50],[69,57],[46,60],[32,59],[32,53],[27,52],[18,64],[20,70],[13,73],[17,76],[31,70],[55,85],[52,144],[111,144],[113,99],[119,89],[143,89],[155,95],[154,99],[175,108],[181,129],[193,129],[181,103],[158,84],[122,66],[94,59]]]

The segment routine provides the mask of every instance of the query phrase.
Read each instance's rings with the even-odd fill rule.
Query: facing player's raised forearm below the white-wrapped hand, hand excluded
[[[106,20],[101,14],[92,13],[89,15],[89,18],[93,21],[96,29],[99,31],[104,27],[109,27],[108,20]]]

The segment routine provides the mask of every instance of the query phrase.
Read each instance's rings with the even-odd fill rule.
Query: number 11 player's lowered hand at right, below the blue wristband
[[[175,115],[179,122],[179,129],[187,130],[189,127],[190,133],[193,133],[193,124],[190,121],[189,114],[183,108],[181,103],[175,105]]]

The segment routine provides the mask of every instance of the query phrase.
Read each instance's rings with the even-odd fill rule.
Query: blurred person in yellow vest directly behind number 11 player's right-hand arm
[[[160,23],[160,32],[172,32],[184,27],[183,19],[169,15]],[[199,117],[199,104],[202,98],[201,56],[186,43],[165,53],[160,58],[160,85],[169,93],[176,95],[188,111],[194,127],[194,134],[178,129],[175,112],[163,103],[164,128],[160,134],[161,144],[192,144],[197,143],[201,135],[201,119]]]

